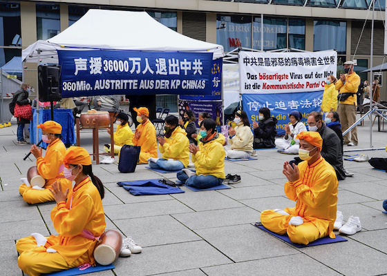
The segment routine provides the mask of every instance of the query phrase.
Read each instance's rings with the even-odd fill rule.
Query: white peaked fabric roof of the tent
[[[22,60],[37,62],[37,50],[45,63],[57,63],[57,49],[111,49],[162,52],[214,52],[223,57],[223,46],[191,39],[153,19],[147,12],[88,10],[63,32],[39,40],[23,50]]]

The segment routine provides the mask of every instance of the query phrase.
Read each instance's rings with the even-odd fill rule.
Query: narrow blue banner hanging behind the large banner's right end
[[[180,99],[189,101],[220,101],[222,99],[222,71],[223,59],[216,59],[211,68],[211,94],[180,95]]]

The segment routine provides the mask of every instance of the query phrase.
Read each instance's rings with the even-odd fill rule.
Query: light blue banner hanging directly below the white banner
[[[279,120],[276,128],[279,135],[285,135],[283,128],[289,124],[288,114],[293,110],[301,112],[306,123],[310,112],[321,110],[323,91],[281,93],[281,94],[243,94],[242,106],[250,123],[258,122],[259,109],[269,108],[272,117]]]

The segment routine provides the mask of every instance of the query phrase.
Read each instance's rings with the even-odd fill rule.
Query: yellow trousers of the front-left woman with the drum
[[[30,276],[75,268],[89,262],[86,253],[86,259],[82,255],[73,264],[68,265],[59,253],[47,253],[44,246],[37,246],[35,238],[31,236],[19,239],[16,250],[20,254],[17,258],[19,268]]]

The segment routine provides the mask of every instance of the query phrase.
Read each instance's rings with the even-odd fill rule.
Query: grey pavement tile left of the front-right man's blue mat
[[[200,229],[195,232],[234,262],[298,253],[292,246],[251,224]]]

